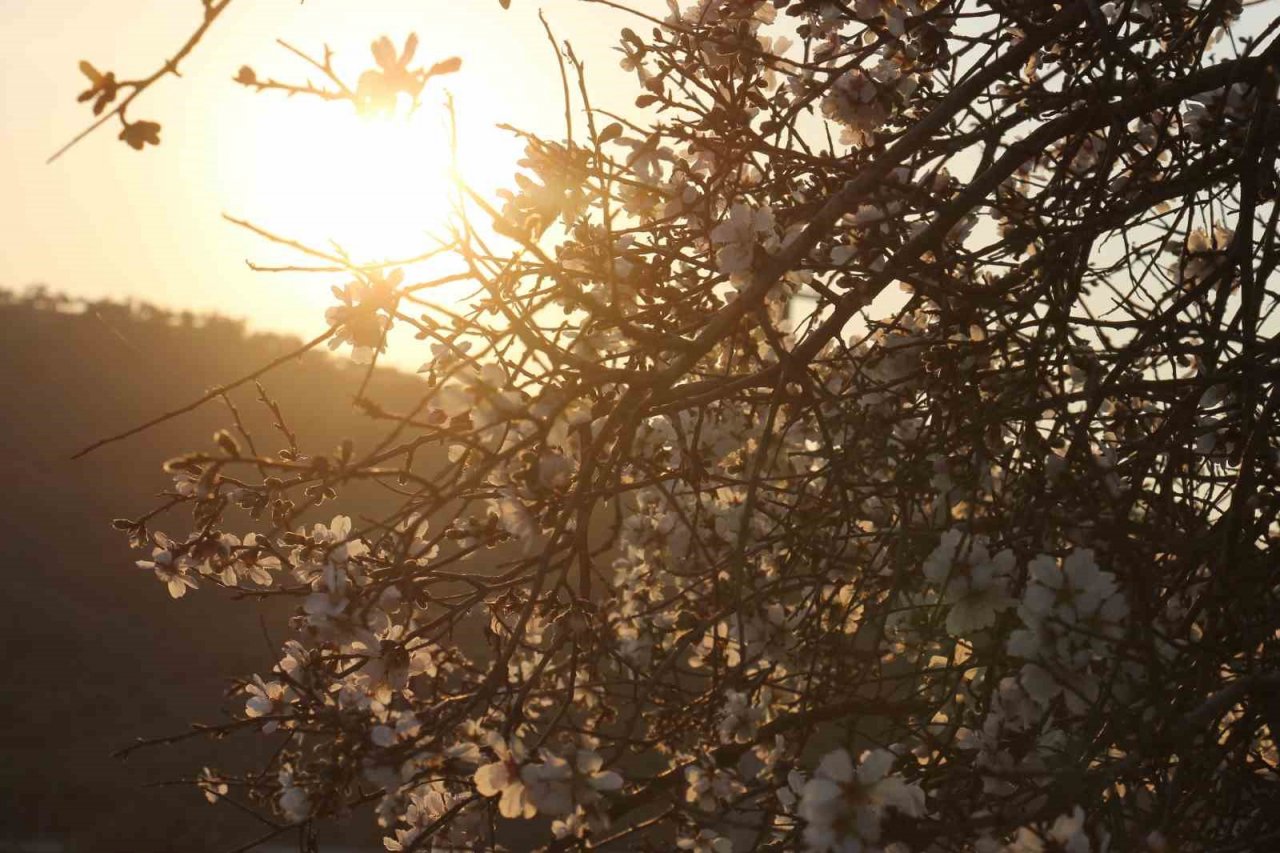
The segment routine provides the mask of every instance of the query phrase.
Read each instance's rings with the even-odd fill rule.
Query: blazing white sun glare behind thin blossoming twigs
[[[458,83],[452,105],[451,90],[440,87],[416,105],[404,97],[390,114],[273,93],[236,102],[228,124],[239,132],[224,134],[207,174],[219,213],[279,238],[218,220],[228,229],[218,241],[225,257],[270,270],[257,273],[262,325],[314,337],[335,304],[333,288],[353,280],[351,272],[302,247],[357,266],[399,268],[415,288],[402,304],[412,318],[431,306],[465,311],[481,292],[458,254],[439,250],[460,227],[462,186],[493,200],[498,188],[512,186],[524,142],[498,127],[502,102],[480,81]],[[483,209],[467,209],[468,224],[493,238]],[[440,279],[447,280],[435,284]],[[388,347],[383,362],[416,368],[417,348],[399,346],[412,324],[401,320],[392,332],[397,346]]]

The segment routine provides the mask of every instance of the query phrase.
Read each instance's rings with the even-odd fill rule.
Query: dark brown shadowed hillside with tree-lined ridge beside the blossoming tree
[[[44,288],[0,291],[0,850],[227,850],[264,830],[227,806],[209,807],[191,776],[228,754],[251,760],[266,744],[244,736],[110,753],[138,736],[218,721],[229,680],[265,671],[283,639],[285,602],[233,602],[201,589],[172,601],[111,519],[137,516],[170,485],[165,459],[209,447],[229,425],[221,402],[73,461],[72,453],[191,402],[298,346],[250,334],[243,323],[145,304],[86,302]],[[305,450],[357,448],[380,426],[349,403],[364,368],[323,352],[262,379]],[[379,369],[370,394],[408,405],[417,377]],[[233,393],[251,432],[283,446],[255,402]],[[349,496],[344,496],[349,497]],[[343,511],[376,512],[378,494]],[[315,519],[333,515],[332,506]],[[189,519],[156,525],[186,532]],[[260,617],[260,613],[265,617]],[[360,822],[366,826],[366,821]],[[379,849],[376,838],[339,839]],[[22,848],[18,843],[41,841]],[[296,840],[282,836],[280,845]],[[288,849],[279,847],[278,849]],[[296,845],[293,849],[297,849]]]

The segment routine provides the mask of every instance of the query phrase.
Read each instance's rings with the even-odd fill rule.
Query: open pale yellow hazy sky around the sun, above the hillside
[[[634,82],[617,67],[603,6],[544,0],[550,24],[588,61],[596,102],[625,105]],[[413,254],[443,222],[443,91],[457,99],[463,173],[511,184],[520,146],[508,122],[550,136],[563,127],[559,73],[538,22],[515,0],[237,0],[182,65],[131,108],[163,124],[159,149],[115,140],[113,120],[60,160],[45,160],[90,120],[76,96],[82,59],[116,77],[150,74],[198,23],[198,0],[0,0],[0,286],[45,282],[83,296],[134,296],[216,309],[259,328],[324,329],[338,275],[269,275],[244,261],[302,259],[221,219],[229,213],[302,241],[337,240],[357,257]],[[458,55],[458,74],[429,83],[411,122],[369,123],[344,104],[255,95],[232,82],[301,81],[307,68],[275,44],[319,54],[355,79],[369,44],[421,38],[424,63]]]

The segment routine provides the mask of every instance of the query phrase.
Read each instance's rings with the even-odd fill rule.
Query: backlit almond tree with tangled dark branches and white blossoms
[[[424,342],[384,442],[264,394],[285,450],[237,418],[189,523],[116,523],[175,597],[297,601],[205,729],[275,757],[197,784],[392,850],[1280,844],[1274,4],[631,14],[636,109],[566,47],[566,137],[460,188],[465,305],[300,247],[308,347]],[[385,109],[457,69],[413,54],[238,79]]]

